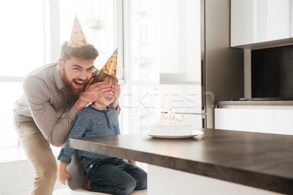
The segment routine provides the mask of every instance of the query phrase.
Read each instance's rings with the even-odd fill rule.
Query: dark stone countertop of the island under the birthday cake
[[[293,136],[198,129],[159,139],[144,134],[70,139],[70,147],[293,195]]]

